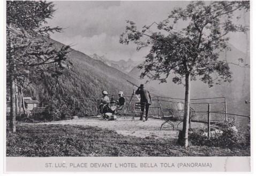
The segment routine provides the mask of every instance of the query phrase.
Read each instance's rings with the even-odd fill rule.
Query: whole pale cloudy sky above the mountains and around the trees
[[[53,1],[56,12],[48,20],[50,26],[61,26],[63,33],[51,35],[52,39],[87,55],[96,53],[110,60],[142,60],[149,49],[136,51],[134,44],[122,45],[119,36],[125,30],[125,20],[137,26],[162,21],[174,7],[184,7],[186,1]],[[249,25],[249,14],[242,24]],[[249,48],[249,35],[231,34],[230,43],[240,51]]]

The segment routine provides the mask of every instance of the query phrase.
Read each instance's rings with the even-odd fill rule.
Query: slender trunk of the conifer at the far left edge
[[[10,132],[16,132],[16,101],[15,101],[15,80],[13,73],[10,74],[10,98],[11,98],[11,111],[10,111]]]

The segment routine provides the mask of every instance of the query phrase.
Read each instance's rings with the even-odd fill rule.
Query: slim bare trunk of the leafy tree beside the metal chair
[[[189,146],[189,118],[190,118],[190,74],[185,76],[185,103],[184,118],[182,128],[181,144],[187,148]]]

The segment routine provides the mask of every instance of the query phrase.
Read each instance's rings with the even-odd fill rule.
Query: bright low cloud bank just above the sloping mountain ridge
[[[64,44],[71,45],[73,49],[84,52],[87,55],[96,53],[98,55],[105,55],[110,60],[127,60],[129,58],[142,60],[149,50],[144,49],[137,52],[135,51],[136,46],[134,44],[122,45],[119,43],[119,35],[110,36],[106,33],[92,37],[58,35],[55,36],[54,39]]]

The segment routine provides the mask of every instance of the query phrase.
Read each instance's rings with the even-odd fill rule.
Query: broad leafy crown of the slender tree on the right
[[[221,79],[230,82],[229,65],[225,60],[218,60],[219,53],[228,47],[228,33],[248,30],[232,19],[234,11],[248,11],[249,6],[249,1],[213,1],[208,5],[203,1],[191,2],[185,9],[176,8],[167,19],[153,22],[142,30],[128,20],[120,43],[134,42],[137,50],[151,47],[145,62],[139,66],[143,70],[141,78],[146,76],[164,83],[172,76],[174,83],[181,84],[182,78],[190,74],[192,81],[199,77],[209,86],[213,86],[214,81],[219,84]],[[183,21],[186,27],[179,29],[177,24]],[[150,30],[153,25],[157,27],[154,32]]]

